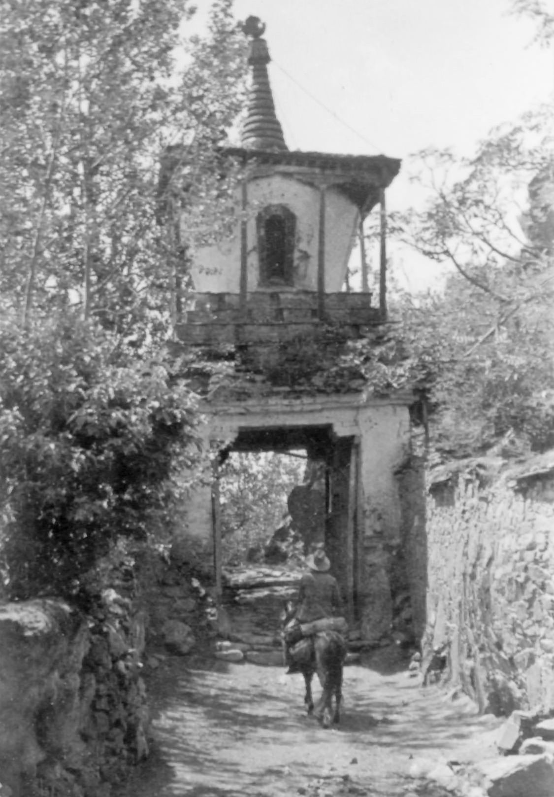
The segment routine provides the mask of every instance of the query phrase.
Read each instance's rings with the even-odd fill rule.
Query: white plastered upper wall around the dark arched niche
[[[317,290],[319,191],[287,175],[271,175],[248,183],[248,290],[259,289],[256,214],[267,205],[286,205],[296,216],[295,288]],[[240,207],[240,193],[237,194]],[[326,292],[338,292],[345,279],[359,214],[337,190],[326,191]],[[240,225],[228,241],[199,250],[192,267],[200,292],[240,291]]]

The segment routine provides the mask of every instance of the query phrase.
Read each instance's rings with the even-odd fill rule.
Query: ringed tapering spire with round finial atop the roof
[[[267,64],[271,61],[267,41],[262,38],[265,25],[259,17],[248,17],[244,33],[251,37],[248,64],[252,67],[252,84],[244,120],[241,143],[245,149],[287,150],[283,128],[275,114]]]

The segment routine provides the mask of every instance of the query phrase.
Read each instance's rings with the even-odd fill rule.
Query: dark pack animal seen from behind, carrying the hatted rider
[[[295,605],[287,602],[281,620],[283,628],[290,622],[295,614]],[[319,631],[314,634],[311,654],[303,662],[298,663],[299,672],[304,676],[306,683],[306,697],[304,702],[308,714],[313,714],[324,728],[330,724],[337,724],[341,719],[342,700],[342,667],[346,658],[345,640],[337,631]],[[314,709],[311,682],[314,674],[318,673],[322,685],[322,696]],[[335,699],[333,709],[333,697]]]

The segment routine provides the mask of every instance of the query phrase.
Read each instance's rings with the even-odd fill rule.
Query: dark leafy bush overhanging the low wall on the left
[[[197,456],[193,394],[162,357],[71,314],[0,325],[0,372],[7,595],[78,598],[111,541],[170,523],[174,475]]]

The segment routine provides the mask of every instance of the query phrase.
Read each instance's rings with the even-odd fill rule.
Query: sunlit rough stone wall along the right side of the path
[[[423,672],[442,669],[484,712],[552,713],[552,471],[483,473],[431,485]]]

